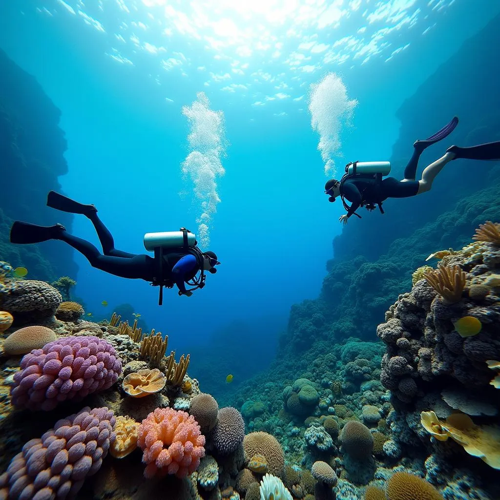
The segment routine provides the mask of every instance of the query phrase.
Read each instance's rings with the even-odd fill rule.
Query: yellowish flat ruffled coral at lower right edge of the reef
[[[422,426],[436,439],[451,437],[472,456],[477,456],[490,467],[500,469],[500,427],[476,425],[465,413],[452,413],[441,422],[433,411],[420,413]]]

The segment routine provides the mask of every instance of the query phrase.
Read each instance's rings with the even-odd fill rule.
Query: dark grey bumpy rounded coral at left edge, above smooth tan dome
[[[0,290],[2,309],[15,317],[16,324],[52,316],[61,302],[59,291],[45,281],[22,279]]]

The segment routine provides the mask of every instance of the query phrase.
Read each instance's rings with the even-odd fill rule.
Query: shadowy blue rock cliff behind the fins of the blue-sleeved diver
[[[60,222],[71,229],[73,216],[47,208],[46,195],[60,192],[59,175],[67,172],[66,139],[60,111],[35,78],[0,50],[0,260],[23,266],[30,276],[54,280],[75,275],[73,250],[57,242],[11,245],[13,220],[40,225]]]

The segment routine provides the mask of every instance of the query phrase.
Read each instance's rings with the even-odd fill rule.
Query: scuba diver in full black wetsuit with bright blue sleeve
[[[69,213],[81,213],[90,219],[102,246],[102,254],[88,241],[66,232],[62,224],[40,226],[15,221],[10,229],[11,243],[38,243],[49,239],[60,239],[83,254],[92,267],[109,274],[129,279],[144,279],[151,285],[159,285],[158,305],[163,301],[163,286],[177,285],[179,295],[192,295],[193,290],[205,285],[204,271],[216,272],[220,264],[212,251],[202,252],[196,245],[195,235],[184,227],[179,231],[150,232],[144,235],[144,247],[154,251],[149,255],[136,255],[117,250],[111,233],[97,216],[94,205],[78,203],[62,194],[50,191],[47,205]],[[199,276],[197,276],[199,272]],[[185,283],[192,286],[186,289]]]

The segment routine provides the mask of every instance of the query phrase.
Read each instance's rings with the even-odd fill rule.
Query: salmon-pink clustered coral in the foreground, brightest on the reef
[[[137,444],[143,450],[145,477],[196,470],[205,455],[205,436],[192,415],[171,408],[156,408],[139,425]]]

